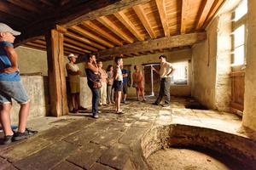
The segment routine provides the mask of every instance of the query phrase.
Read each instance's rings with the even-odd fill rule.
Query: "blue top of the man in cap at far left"
[[[5,47],[14,47],[14,45],[10,42],[0,41],[0,71],[11,66],[11,62],[9,60],[8,54]],[[17,82],[20,81],[20,72],[16,71],[13,73],[3,73],[0,72],[0,81],[10,81]]]

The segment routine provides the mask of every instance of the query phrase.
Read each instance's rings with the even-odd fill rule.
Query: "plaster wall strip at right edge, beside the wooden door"
[[[248,0],[247,14],[247,68],[245,77],[245,101],[242,124],[256,131],[256,1]]]

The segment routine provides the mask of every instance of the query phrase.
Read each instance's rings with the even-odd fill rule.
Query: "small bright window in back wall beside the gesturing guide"
[[[187,85],[188,84],[188,61],[173,63],[176,69],[172,77],[172,84]]]

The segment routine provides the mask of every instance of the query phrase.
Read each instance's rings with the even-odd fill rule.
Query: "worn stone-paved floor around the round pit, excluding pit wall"
[[[0,169],[146,169],[147,162],[136,147],[148,129],[171,123],[208,127],[254,138],[241,127],[241,118],[218,111],[185,109],[191,99],[172,98],[169,108],[130,100],[116,115],[113,105],[102,107],[99,119],[89,112],[42,117],[28,127],[39,133],[30,139],[0,145]],[[171,109],[172,108],[172,109]],[[3,133],[1,134],[3,137]],[[136,160],[136,163],[134,163]]]

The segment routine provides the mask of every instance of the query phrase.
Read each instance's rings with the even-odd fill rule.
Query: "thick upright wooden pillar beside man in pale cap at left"
[[[65,29],[56,26],[46,36],[48,81],[49,81],[49,116],[67,115],[67,88],[64,68],[63,33]]]

